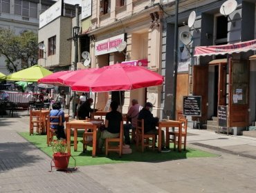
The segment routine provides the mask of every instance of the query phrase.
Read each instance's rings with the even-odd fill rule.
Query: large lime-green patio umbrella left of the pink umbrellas
[[[49,74],[53,74],[53,72],[43,68],[40,65],[33,65],[30,68],[26,68],[24,70],[20,70],[19,72],[15,72],[6,76],[7,81],[30,81],[37,82],[38,79],[42,79]]]

